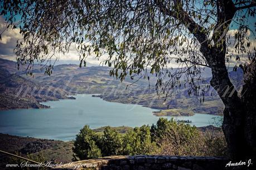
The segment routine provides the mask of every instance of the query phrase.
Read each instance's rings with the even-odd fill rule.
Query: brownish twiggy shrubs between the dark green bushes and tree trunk
[[[227,156],[226,140],[221,130],[200,132],[189,124],[160,118],[152,126],[152,135],[160,147],[153,154],[178,156]]]

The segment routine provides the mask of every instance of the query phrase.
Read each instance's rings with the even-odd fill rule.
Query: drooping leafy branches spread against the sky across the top
[[[233,17],[225,6],[233,10]],[[50,75],[57,54],[75,46],[80,66],[93,55],[112,66],[110,75],[120,80],[127,75],[149,79],[150,72],[158,77],[157,88],[168,92],[182,77],[191,88],[189,94],[198,95],[202,66],[212,66],[200,51],[202,43],[220,47],[228,54],[226,62],[232,57],[237,61],[242,56],[249,60],[255,57],[248,35],[248,31],[254,35],[250,26],[254,7],[253,1],[238,0],[27,0],[1,1],[1,14],[7,27],[20,28],[23,39],[15,48],[17,63],[28,64],[30,74],[33,62],[39,61]],[[230,23],[238,31],[229,41]],[[171,71],[173,62],[178,69]],[[201,93],[204,95],[204,90]]]

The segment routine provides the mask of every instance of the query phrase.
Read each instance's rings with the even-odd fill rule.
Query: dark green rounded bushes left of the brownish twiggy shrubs
[[[156,148],[151,130],[147,125],[120,134],[112,127],[105,127],[102,135],[85,125],[74,141],[74,159],[90,159],[100,156],[132,155],[150,153]]]

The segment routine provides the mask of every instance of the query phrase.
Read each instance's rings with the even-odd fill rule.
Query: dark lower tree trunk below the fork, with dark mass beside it
[[[206,56],[212,71],[211,86],[217,91],[225,105],[223,132],[228,144],[230,158],[234,160],[248,160],[256,158],[256,80],[250,70],[250,77],[243,86],[239,96],[231,83],[225,66],[225,49],[202,47],[202,54]],[[247,75],[245,75],[247,76]],[[252,81],[253,79],[253,81]],[[254,159],[256,161],[256,159]],[[256,164],[256,162],[255,162]]]

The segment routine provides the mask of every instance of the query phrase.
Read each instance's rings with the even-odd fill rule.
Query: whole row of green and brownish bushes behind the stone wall
[[[201,132],[195,126],[160,118],[156,125],[136,127],[123,135],[112,127],[104,127],[99,134],[85,125],[76,135],[73,152],[75,160],[133,154],[226,156],[226,143],[220,130]]]

